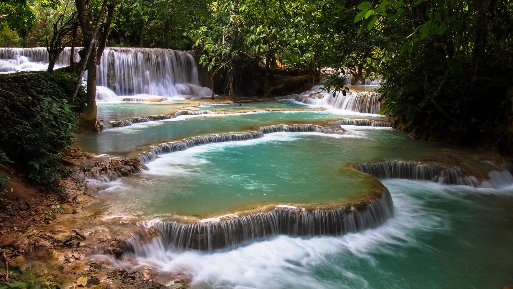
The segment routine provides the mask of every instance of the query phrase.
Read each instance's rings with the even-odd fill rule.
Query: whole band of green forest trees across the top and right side
[[[327,89],[345,89],[346,77],[382,79],[382,113],[413,136],[511,147],[510,1],[4,0],[0,44],[87,46],[83,25],[66,22],[81,2],[107,46],[196,50],[230,95],[253,78],[267,96],[283,69],[330,68]]]

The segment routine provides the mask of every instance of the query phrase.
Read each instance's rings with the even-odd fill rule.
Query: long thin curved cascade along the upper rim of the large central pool
[[[149,152],[144,152],[143,154],[139,155],[139,159],[143,163],[148,163],[155,160],[162,154],[185,151],[189,148],[201,146],[203,144],[250,140],[261,138],[264,136],[264,134],[276,132],[319,132],[325,134],[347,134],[345,130],[339,127],[323,127],[318,125],[275,125],[262,127],[258,131],[252,132],[210,134],[205,136],[190,137],[181,141],[161,143],[158,146],[152,146]]]

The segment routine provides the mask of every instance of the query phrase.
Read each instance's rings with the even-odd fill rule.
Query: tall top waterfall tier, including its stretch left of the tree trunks
[[[75,51],[80,50],[80,48]],[[71,48],[61,53],[56,67],[70,63]],[[76,54],[75,61],[80,59]],[[46,48],[0,48],[0,72],[46,70]],[[98,66],[98,100],[117,96],[138,99],[208,96],[210,89],[199,86],[198,67],[186,52],[157,48],[106,48]]]

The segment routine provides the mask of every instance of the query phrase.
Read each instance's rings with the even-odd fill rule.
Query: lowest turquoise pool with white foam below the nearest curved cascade
[[[141,264],[186,272],[193,288],[502,288],[513,282],[509,190],[384,181],[394,217],[341,237],[279,236],[215,253],[166,250]]]

